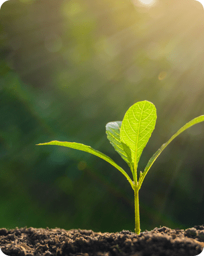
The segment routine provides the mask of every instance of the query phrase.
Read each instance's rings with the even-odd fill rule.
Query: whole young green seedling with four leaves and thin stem
[[[107,123],[105,126],[107,138],[109,139],[111,145],[120,154],[121,158],[127,162],[132,171],[133,180],[130,179],[128,174],[120,166],[118,166],[109,156],[94,150],[90,146],[85,146],[81,143],[76,142],[61,142],[61,141],[50,141],[47,143],[40,143],[36,145],[58,145],[68,148],[74,148],[75,150],[82,150],[89,152],[95,156],[99,156],[103,160],[106,160],[115,168],[117,168],[129,181],[132,189],[134,190],[134,204],[135,204],[135,232],[140,234],[140,212],[139,212],[139,190],[144,181],[144,177],[150,170],[150,167],[161,154],[162,150],[172,141],[178,134],[182,133],[189,127],[204,121],[204,115],[196,117],[191,120],[189,123],[184,125],[179,129],[166,143],[164,143],[159,150],[150,158],[144,172],[140,171],[140,177],[138,181],[137,168],[140,156],[146,143],[150,139],[152,131],[154,130],[156,123],[156,107],[152,102],[149,101],[140,101],[132,105],[127,112],[123,121],[115,121]]]

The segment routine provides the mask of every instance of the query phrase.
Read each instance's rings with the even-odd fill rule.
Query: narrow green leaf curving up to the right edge
[[[142,182],[144,181],[144,177],[146,177],[146,174],[148,173],[148,170],[150,170],[150,167],[152,166],[152,164],[154,163],[156,158],[158,158],[158,156],[161,154],[161,152],[164,150],[164,148],[166,148],[166,146],[170,143],[170,141],[172,141],[176,136],[178,136],[180,133],[182,133],[183,131],[185,131],[189,127],[191,127],[191,126],[193,126],[197,123],[201,123],[203,121],[204,121],[204,115],[201,115],[200,117],[196,117],[195,119],[191,120],[189,123],[187,123],[186,125],[181,127],[181,129],[179,129],[174,135],[172,135],[172,137],[170,137],[170,139],[166,143],[164,143],[161,146],[161,148],[159,148],[156,151],[156,153],[154,153],[152,158],[150,158],[150,160],[148,161],[148,164],[146,165],[146,168],[144,169],[144,172],[142,173],[142,177],[139,180],[139,189],[142,185]]]

